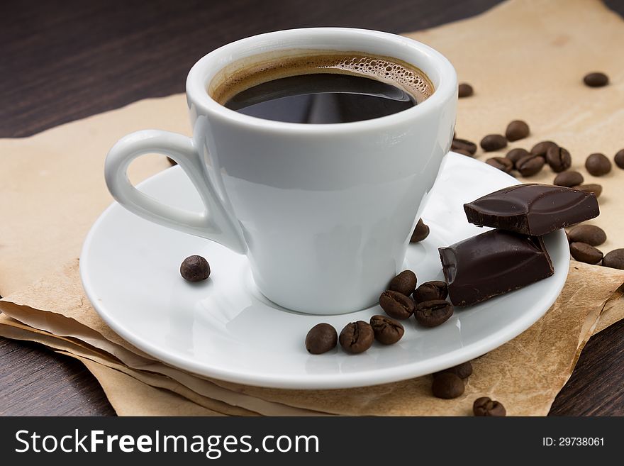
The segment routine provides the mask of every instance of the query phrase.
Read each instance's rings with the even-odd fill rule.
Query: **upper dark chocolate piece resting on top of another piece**
[[[470,223],[545,235],[600,213],[596,195],[551,184],[516,184],[464,204]]]

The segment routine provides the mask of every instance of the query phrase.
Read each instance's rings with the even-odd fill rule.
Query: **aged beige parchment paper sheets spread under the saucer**
[[[551,139],[570,150],[573,169],[604,187],[602,213],[594,222],[608,233],[601,248],[624,247],[624,208],[615,202],[624,173],[614,168],[594,179],[582,168],[589,153],[611,157],[624,147],[619,16],[597,0],[513,0],[475,18],[409,35],[447,55],[460,82],[475,88],[473,97],[459,101],[459,137],[478,143],[486,134],[503,133],[508,121],[525,119],[530,138],[509,148]],[[607,72],[611,85],[584,87],[581,78],[591,70]],[[141,128],[189,134],[184,96],[139,101],[30,138],[0,140],[0,294],[8,296],[0,301],[6,314],[0,334],[39,338],[81,359],[118,414],[469,414],[472,397],[484,394],[503,401],[509,414],[546,414],[591,332],[624,317],[618,298],[623,272],[573,262],[555,306],[527,332],[476,360],[466,394],[452,401],[433,399],[428,377],[365,389],[286,391],[207,380],[168,367],[104,325],[77,275],[84,235],[111,201],[102,175],[104,156],[118,138]],[[477,158],[504,152],[479,151]],[[168,166],[162,156],[145,159],[131,167],[134,182]],[[546,169],[530,181],[552,182],[554,176]],[[38,277],[43,279],[29,287]],[[522,360],[535,365],[520,366]],[[191,401],[182,403],[180,396]]]

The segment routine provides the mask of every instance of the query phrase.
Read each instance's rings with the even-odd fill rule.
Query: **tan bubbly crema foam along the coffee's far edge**
[[[427,75],[418,68],[396,58],[362,52],[306,51],[306,55],[276,56],[272,60],[247,66],[245,61],[240,60],[238,67],[237,62],[226,67],[211,82],[208,94],[219,104],[224,105],[236,94],[258,84],[300,74],[355,74],[377,79],[400,87],[411,94],[418,104],[430,97],[434,91]],[[214,82],[217,84],[214,85]]]

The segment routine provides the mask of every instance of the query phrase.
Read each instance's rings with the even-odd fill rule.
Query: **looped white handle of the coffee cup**
[[[140,155],[155,152],[171,157],[182,167],[204,202],[203,212],[167,206],[140,192],[130,183],[127,173],[130,162]],[[159,225],[216,241],[236,253],[244,254],[247,251],[238,221],[218,196],[191,138],[158,130],[126,135],[108,151],[104,174],[108,190],[128,211]]]

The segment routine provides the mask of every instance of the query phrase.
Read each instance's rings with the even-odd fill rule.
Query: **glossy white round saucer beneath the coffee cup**
[[[516,179],[463,155],[445,157],[423,213],[430,235],[410,245],[405,268],[418,282],[442,279],[438,247],[483,228],[470,225],[462,204]],[[172,167],[140,189],[174,206],[201,209],[184,172]],[[563,231],[547,235],[555,274],[541,282],[466,309],[437,328],[403,321],[403,339],[374,343],[366,353],[341,348],[310,355],[308,330],[331,323],[338,333],[351,321],[383,314],[379,306],[341,316],[296,314],[255,289],[247,259],[217,243],[157,226],[113,203],[96,221],[80,257],[84,289],[114,331],[145,353],[199,375],[264,387],[336,389],[394,382],[457,365],[506,343],[537,321],[555,301],[568,273]],[[206,282],[179,274],[184,257],[211,265]],[[390,277],[389,277],[390,278]]]

